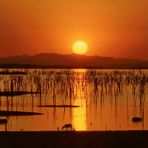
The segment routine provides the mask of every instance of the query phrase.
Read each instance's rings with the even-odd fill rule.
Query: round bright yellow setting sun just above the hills
[[[77,41],[73,44],[72,50],[76,54],[85,54],[88,50],[88,46],[84,41]]]

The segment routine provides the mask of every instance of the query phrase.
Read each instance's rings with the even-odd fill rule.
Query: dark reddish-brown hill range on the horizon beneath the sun
[[[41,53],[0,58],[0,67],[11,68],[148,68],[148,61],[76,54]]]

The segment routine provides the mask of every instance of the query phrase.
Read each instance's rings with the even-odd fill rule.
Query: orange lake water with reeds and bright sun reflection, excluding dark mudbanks
[[[148,130],[148,70],[28,69],[0,75],[1,92],[32,94],[0,97],[0,110],[39,112],[35,116],[1,116],[8,131]],[[33,92],[38,92],[33,93]],[[54,105],[54,107],[45,107]],[[76,105],[79,107],[55,107]],[[43,107],[44,106],[44,107]],[[133,122],[141,117],[142,122]],[[0,130],[5,130],[0,125]]]

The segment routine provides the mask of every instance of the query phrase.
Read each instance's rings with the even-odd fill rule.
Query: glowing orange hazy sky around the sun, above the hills
[[[0,0],[0,56],[72,53],[148,59],[147,0]]]

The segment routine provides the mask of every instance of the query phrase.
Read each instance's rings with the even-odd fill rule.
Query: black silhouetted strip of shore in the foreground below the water
[[[147,148],[146,131],[7,131],[0,132],[4,148]]]

